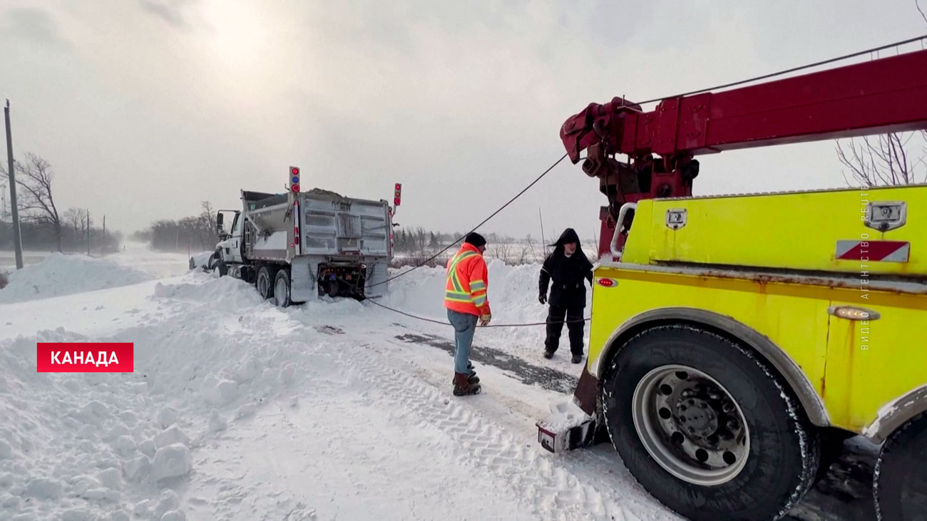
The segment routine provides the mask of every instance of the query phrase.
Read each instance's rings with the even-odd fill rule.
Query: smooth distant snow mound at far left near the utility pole
[[[147,273],[107,259],[53,253],[9,273],[9,284],[0,289],[0,304],[129,286],[150,279]]]

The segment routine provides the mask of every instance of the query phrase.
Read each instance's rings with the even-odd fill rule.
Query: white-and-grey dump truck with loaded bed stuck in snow
[[[303,192],[298,167],[289,174],[286,193],[242,190],[240,210],[217,213],[222,240],[211,265],[220,275],[254,284],[261,297],[281,307],[319,297],[385,294],[394,207],[319,188]],[[230,231],[224,227],[228,219]]]

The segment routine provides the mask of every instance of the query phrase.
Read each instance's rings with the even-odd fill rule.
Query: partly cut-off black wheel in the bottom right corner
[[[927,413],[900,426],[885,440],[875,464],[872,494],[884,521],[927,519]]]

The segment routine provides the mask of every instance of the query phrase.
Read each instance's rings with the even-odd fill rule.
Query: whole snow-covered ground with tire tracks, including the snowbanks
[[[475,359],[509,365],[476,359],[483,394],[455,398],[441,325],[280,310],[186,267],[52,256],[0,290],[0,521],[678,519],[607,445],[540,448],[552,380],[579,374],[543,327],[479,330]],[[490,263],[494,322],[543,320],[537,274]],[[442,319],[443,285],[419,270],[383,303]],[[133,342],[134,373],[40,374],[38,341]]]

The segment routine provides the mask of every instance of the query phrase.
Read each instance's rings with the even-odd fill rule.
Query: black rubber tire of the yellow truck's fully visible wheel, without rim
[[[632,397],[644,375],[680,364],[714,378],[738,402],[749,427],[748,460],[735,477],[701,486],[669,474],[641,443]],[[693,521],[779,519],[801,501],[817,473],[818,429],[781,376],[741,344],[688,324],[631,337],[603,375],[608,434],[631,475],[667,507]]]

